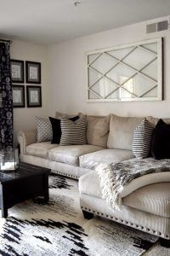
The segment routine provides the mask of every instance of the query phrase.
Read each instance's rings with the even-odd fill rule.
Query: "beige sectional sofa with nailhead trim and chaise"
[[[92,218],[94,214],[110,218],[160,236],[162,244],[169,246],[170,172],[158,175],[156,183],[151,182],[154,174],[135,179],[135,183],[142,184],[141,188],[134,184],[132,193],[122,198],[122,210],[113,212],[102,199],[99,177],[94,171],[99,163],[110,164],[134,158],[133,130],[142,120],[112,114],[111,120],[109,116],[88,117],[86,145],[37,143],[36,131],[20,131],[20,160],[48,167],[52,172],[68,177],[80,177],[80,201],[85,218]],[[156,119],[151,121],[156,122]]]

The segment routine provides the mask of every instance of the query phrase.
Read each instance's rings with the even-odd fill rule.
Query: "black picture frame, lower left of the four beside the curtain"
[[[13,84],[13,108],[25,108],[25,86]]]

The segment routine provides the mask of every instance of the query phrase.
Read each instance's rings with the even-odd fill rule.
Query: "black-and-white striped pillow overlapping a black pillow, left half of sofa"
[[[73,122],[69,119],[61,118],[61,138],[60,146],[83,145],[87,143],[86,129],[87,117],[81,116]]]

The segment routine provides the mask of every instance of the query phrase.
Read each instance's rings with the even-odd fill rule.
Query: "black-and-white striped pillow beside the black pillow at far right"
[[[142,123],[133,131],[133,154],[137,158],[145,158],[150,154],[150,143],[154,125],[144,118]]]

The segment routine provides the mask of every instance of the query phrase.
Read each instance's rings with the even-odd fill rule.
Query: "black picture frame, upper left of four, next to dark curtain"
[[[24,61],[11,59],[10,64],[12,83],[24,84]]]

